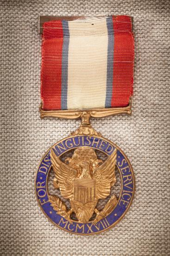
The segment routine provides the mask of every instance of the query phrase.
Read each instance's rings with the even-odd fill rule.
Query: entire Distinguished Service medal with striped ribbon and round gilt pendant
[[[125,216],[135,189],[126,155],[90,124],[91,117],[131,114],[132,21],[128,16],[40,17],[40,32],[40,115],[80,118],[81,124],[41,159],[35,178],[38,204],[65,231],[100,233]]]

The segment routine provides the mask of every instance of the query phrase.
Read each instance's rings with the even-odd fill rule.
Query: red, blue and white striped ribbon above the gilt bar
[[[128,16],[44,23],[44,110],[125,107],[133,91],[134,40]]]

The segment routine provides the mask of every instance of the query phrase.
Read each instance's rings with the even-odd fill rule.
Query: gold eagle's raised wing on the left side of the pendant
[[[63,163],[53,150],[51,150],[50,158],[62,196],[64,198],[72,199],[74,179],[76,178],[77,174],[76,170]]]

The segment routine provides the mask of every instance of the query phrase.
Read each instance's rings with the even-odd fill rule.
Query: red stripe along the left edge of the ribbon
[[[44,110],[61,109],[62,49],[62,21],[45,22],[41,66],[41,99]]]

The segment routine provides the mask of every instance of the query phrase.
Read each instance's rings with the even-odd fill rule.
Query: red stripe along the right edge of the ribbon
[[[126,107],[133,93],[134,40],[128,16],[113,17],[113,93],[111,107]]]

